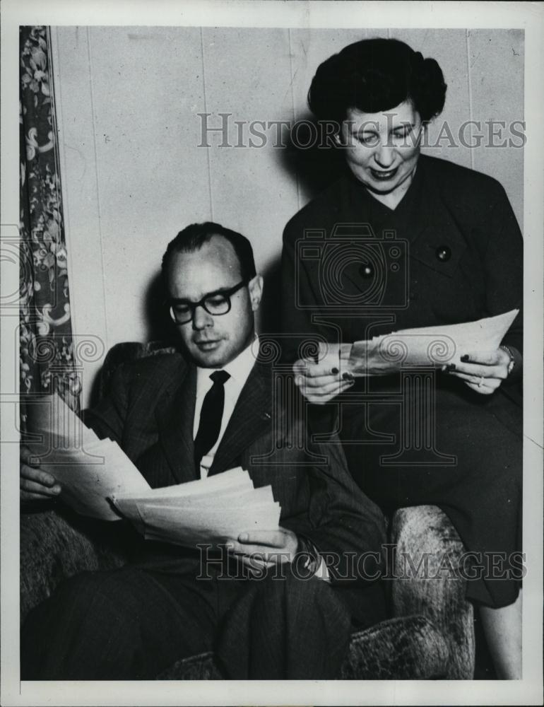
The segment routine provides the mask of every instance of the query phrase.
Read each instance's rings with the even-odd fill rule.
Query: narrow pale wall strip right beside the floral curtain
[[[87,399],[102,365],[101,343],[105,351],[111,345],[107,335],[88,30],[56,28],[52,41],[72,328],[76,337],[95,342],[98,356],[89,357],[94,361],[83,362]]]

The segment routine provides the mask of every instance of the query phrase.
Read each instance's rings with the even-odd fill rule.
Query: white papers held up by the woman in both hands
[[[495,351],[518,312],[463,324],[400,329],[369,341],[355,341],[348,370],[353,375],[385,375],[404,366],[459,363],[469,351]]]

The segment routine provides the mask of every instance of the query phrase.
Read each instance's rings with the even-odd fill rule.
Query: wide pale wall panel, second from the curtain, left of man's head
[[[111,345],[146,337],[167,243],[211,214],[200,30],[92,28],[90,55]]]

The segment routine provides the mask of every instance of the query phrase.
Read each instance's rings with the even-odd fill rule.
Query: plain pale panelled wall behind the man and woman
[[[194,221],[247,235],[268,279],[263,323],[275,325],[278,257],[288,219],[326,182],[323,154],[236,147],[235,120],[310,117],[306,95],[321,61],[363,37],[391,36],[434,57],[448,84],[424,152],[496,177],[523,216],[523,150],[509,125],[524,119],[522,30],[302,30],[57,27],[52,30],[57,127],[69,254],[73,332],[84,352],[83,404],[107,349],[163,333],[157,273],[167,243]],[[230,113],[229,141],[208,134]],[[457,136],[468,120],[466,139]],[[485,121],[496,127],[486,146]],[[447,123],[456,146],[451,146]],[[521,127],[518,127],[521,129]],[[259,144],[258,139],[254,143]],[[322,164],[323,166],[320,166]]]

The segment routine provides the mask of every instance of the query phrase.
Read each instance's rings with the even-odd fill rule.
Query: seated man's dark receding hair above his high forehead
[[[162,281],[167,284],[167,272],[170,260],[175,253],[193,253],[200,250],[204,243],[208,243],[214,235],[220,235],[235,249],[240,262],[240,274],[243,280],[251,280],[256,275],[255,260],[252,244],[249,240],[235,230],[225,228],[219,223],[206,221],[205,223],[191,223],[190,226],[180,230],[174,240],[168,243],[165,255],[162,256]]]

